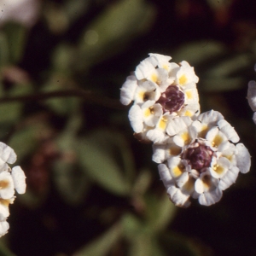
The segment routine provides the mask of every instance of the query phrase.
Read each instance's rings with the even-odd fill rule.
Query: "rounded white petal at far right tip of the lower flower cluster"
[[[251,156],[248,149],[242,143],[236,144],[238,153],[236,154],[237,167],[241,173],[247,173],[251,167]]]

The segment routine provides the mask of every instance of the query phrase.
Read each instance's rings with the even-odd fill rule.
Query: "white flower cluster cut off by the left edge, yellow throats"
[[[19,194],[26,191],[26,177],[20,166],[11,169],[8,165],[14,164],[16,158],[13,148],[0,143],[0,237],[9,230],[9,204],[15,201],[15,190]]]

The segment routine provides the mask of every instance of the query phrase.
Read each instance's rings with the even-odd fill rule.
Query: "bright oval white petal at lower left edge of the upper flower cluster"
[[[133,105],[130,108],[128,118],[133,131],[137,133],[143,131],[143,111],[138,105]]]

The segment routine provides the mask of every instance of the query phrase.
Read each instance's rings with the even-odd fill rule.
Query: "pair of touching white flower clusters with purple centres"
[[[200,114],[194,68],[171,59],[149,54],[126,79],[120,101],[133,102],[129,119],[134,135],[153,143],[152,160],[159,164],[170,200],[189,207],[191,196],[210,206],[239,172],[249,171],[251,157],[221,113]]]

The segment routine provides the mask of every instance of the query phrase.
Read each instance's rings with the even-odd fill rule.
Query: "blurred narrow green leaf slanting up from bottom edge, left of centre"
[[[105,256],[121,235],[121,225],[114,224],[106,233],[91,241],[89,245],[74,253],[73,256]]]

